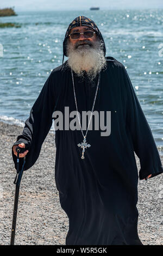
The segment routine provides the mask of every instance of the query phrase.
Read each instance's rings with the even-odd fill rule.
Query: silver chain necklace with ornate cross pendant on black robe
[[[90,116],[90,120],[89,120],[89,124],[87,126],[87,130],[86,130],[86,133],[85,135],[83,134],[83,130],[82,130],[82,127],[81,127],[81,124],[80,124],[80,119],[79,119],[79,114],[78,114],[78,107],[77,107],[77,99],[76,99],[76,92],[75,92],[75,89],[74,89],[74,81],[73,81],[73,72],[72,72],[72,69],[71,69],[71,74],[72,74],[72,82],[73,82],[73,92],[74,92],[74,100],[76,102],[76,108],[77,108],[77,115],[78,115],[78,120],[79,120],[79,125],[80,125],[80,130],[82,131],[82,135],[83,135],[83,142],[82,143],[79,143],[78,144],[78,147],[82,148],[82,156],[81,156],[81,159],[84,159],[84,152],[85,152],[85,149],[88,147],[91,147],[90,144],[87,144],[86,142],[86,135],[87,135],[87,131],[89,129],[89,125],[90,125],[90,121],[91,121],[91,118],[92,118],[92,112],[93,112],[93,109],[94,109],[94,106],[95,106],[95,101],[96,101],[96,96],[97,96],[97,91],[98,91],[98,86],[99,86],[99,76],[98,76],[98,83],[97,83],[97,88],[96,88],[96,93],[95,93],[95,99],[93,101],[93,106],[92,106],[92,111],[91,111],[91,116]]]

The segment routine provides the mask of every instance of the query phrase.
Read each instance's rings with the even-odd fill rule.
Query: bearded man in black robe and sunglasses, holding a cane
[[[20,160],[26,155],[27,170],[39,157],[54,112],[64,114],[68,106],[77,113],[79,129],[55,131],[55,182],[69,218],[66,245],[142,245],[137,234],[138,178],[163,172],[145,114],[123,64],[105,57],[95,22],[85,16],[74,19],[63,50],[62,65],[49,75],[12,146],[15,168],[16,145],[26,150]],[[79,114],[94,109],[111,112],[109,136],[101,136],[100,128],[88,129],[92,115],[82,129]],[[140,159],[139,175],[134,151]]]

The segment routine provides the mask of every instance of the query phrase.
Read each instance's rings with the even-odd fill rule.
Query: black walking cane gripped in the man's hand
[[[11,229],[11,241],[10,245],[14,245],[14,240],[15,240],[15,229],[16,229],[16,217],[17,217],[17,205],[18,205],[18,194],[19,194],[19,188],[20,188],[20,182],[24,170],[24,164],[26,163],[26,156],[23,157],[23,165],[22,169],[19,171],[19,154],[21,152],[20,147],[16,147],[16,152],[17,152],[17,173],[16,177],[14,180],[14,184],[16,184],[15,188],[15,200],[14,200],[14,212],[13,212],[13,217],[12,217],[12,229]]]

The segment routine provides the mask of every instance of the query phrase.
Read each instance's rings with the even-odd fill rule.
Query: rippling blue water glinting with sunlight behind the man
[[[126,66],[163,154],[163,9],[17,14],[0,18],[0,22],[21,25],[0,29],[1,121],[24,125],[49,73],[62,63],[62,41],[68,25],[75,17],[84,15],[91,17],[101,30],[106,56]]]

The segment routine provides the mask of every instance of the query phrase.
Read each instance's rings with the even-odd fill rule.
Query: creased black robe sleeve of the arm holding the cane
[[[24,170],[29,169],[36,162],[41,151],[42,143],[51,129],[53,122],[52,114],[55,105],[54,95],[54,73],[52,71],[30,110],[22,135],[19,135],[17,141],[12,145],[13,147],[14,145],[24,143],[25,148],[29,150],[26,155]],[[12,159],[16,169],[17,157],[14,155],[13,150]],[[22,164],[23,157],[20,157],[20,169],[22,168]]]

